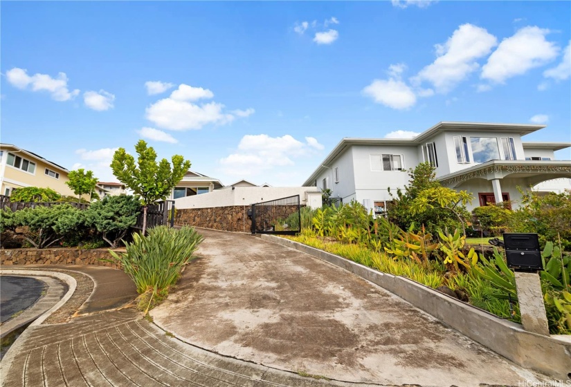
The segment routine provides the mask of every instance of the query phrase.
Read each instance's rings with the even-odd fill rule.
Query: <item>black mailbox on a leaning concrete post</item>
[[[507,265],[514,270],[521,323],[528,332],[549,336],[539,270],[543,270],[537,234],[505,233]]]

